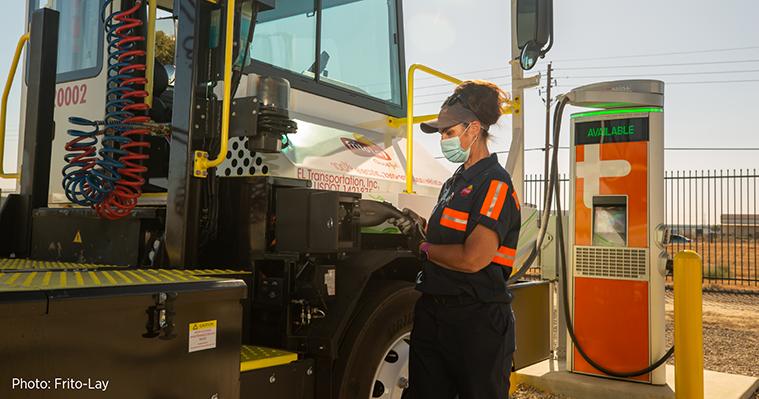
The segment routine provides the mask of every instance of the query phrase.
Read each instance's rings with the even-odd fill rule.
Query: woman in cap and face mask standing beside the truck
[[[443,185],[429,224],[409,209],[391,220],[423,260],[416,289],[409,397],[506,399],[516,342],[513,296],[506,287],[516,255],[520,214],[511,178],[490,154],[488,129],[508,94],[481,80],[456,87],[438,118],[421,124],[441,135],[451,162],[463,163]]]

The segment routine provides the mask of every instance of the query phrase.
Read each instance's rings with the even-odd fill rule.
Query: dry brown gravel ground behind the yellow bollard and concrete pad
[[[673,341],[672,290],[666,292],[667,346]],[[705,288],[704,370],[759,378],[759,291]],[[667,361],[675,364],[674,356]],[[583,399],[520,384],[511,399]],[[751,399],[759,399],[759,391]]]

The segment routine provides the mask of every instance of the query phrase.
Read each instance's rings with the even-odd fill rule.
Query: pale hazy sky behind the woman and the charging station
[[[665,82],[665,148],[759,148],[759,2],[752,0],[554,0],[553,49],[526,76],[553,62],[552,94],[617,79]],[[684,6],[687,5],[687,6]],[[0,77],[8,76],[16,42],[24,32],[25,5],[7,2],[0,42]],[[406,64],[421,63],[460,79],[487,79],[511,89],[510,4],[505,0],[409,0],[403,4]],[[19,125],[17,74],[8,105],[6,171],[15,171]],[[453,86],[418,76],[417,114],[435,113]],[[713,83],[721,82],[721,83]],[[524,95],[525,148],[545,140],[545,79]],[[562,130],[568,132],[568,107]],[[506,151],[511,121],[504,116],[491,151]],[[416,135],[440,156],[436,135]],[[567,146],[564,135],[562,146]],[[568,152],[561,153],[568,170]],[[666,170],[754,169],[759,151],[665,152]],[[542,173],[543,152],[525,153],[526,172]],[[501,156],[505,162],[506,154]],[[445,161],[444,161],[445,162]],[[0,187],[8,187],[8,181]],[[12,185],[12,184],[11,184]]]

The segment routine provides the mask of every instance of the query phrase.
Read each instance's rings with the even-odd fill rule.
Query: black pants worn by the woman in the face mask
[[[441,304],[422,295],[414,313],[409,398],[508,399],[516,350],[510,304]]]

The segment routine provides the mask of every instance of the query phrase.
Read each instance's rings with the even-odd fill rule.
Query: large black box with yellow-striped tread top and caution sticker
[[[0,270],[0,397],[239,397],[243,281],[26,262]]]

